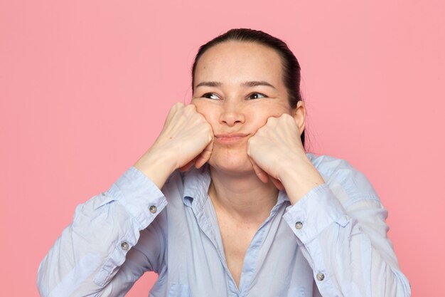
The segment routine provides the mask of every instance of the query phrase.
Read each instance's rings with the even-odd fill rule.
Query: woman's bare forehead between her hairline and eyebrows
[[[282,62],[277,51],[259,43],[226,41],[205,51],[195,69],[195,85],[200,81],[228,84],[248,80],[282,85]]]

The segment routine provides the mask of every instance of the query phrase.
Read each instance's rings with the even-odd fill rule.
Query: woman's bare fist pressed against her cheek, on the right
[[[294,118],[283,114],[271,117],[250,137],[247,146],[254,171],[262,182],[269,178],[295,203],[323,178],[306,157]]]

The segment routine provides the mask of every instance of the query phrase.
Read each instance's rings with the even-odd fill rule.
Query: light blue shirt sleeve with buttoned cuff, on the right
[[[284,219],[313,270],[321,296],[410,296],[368,179],[344,161]],[[326,172],[321,172],[323,173]]]

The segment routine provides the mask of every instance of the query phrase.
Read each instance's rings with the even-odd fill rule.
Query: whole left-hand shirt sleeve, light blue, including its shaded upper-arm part
[[[167,201],[135,167],[76,210],[38,268],[41,296],[124,296],[144,271],[158,271]],[[149,253],[141,253],[144,241]]]

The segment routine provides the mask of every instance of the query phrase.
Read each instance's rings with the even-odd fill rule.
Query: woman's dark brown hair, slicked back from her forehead
[[[203,53],[209,48],[216,46],[219,43],[225,41],[240,41],[240,42],[252,42],[258,43],[263,46],[274,49],[279,54],[282,60],[283,69],[283,82],[286,86],[287,95],[289,96],[289,105],[291,108],[296,108],[296,104],[303,100],[301,98],[300,80],[301,80],[301,68],[298,60],[295,58],[294,53],[291,52],[289,47],[284,41],[274,36],[264,33],[263,31],[252,30],[248,28],[236,28],[223,33],[220,36],[213,38],[208,43],[200,46],[198,53],[195,56],[195,61],[192,67],[192,91],[195,88],[195,69],[198,64],[198,60]],[[304,131],[301,133],[301,142],[304,145]]]

